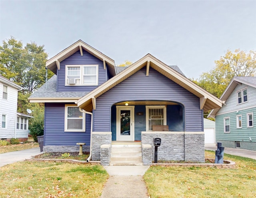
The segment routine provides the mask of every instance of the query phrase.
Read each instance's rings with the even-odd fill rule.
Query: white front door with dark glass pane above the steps
[[[134,141],[134,106],[116,106],[116,140]]]

